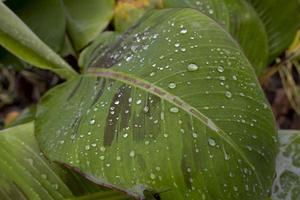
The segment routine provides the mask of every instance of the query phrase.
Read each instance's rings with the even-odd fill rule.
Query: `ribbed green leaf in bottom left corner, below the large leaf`
[[[33,123],[0,132],[0,196],[4,199],[65,199],[71,191],[40,154]]]

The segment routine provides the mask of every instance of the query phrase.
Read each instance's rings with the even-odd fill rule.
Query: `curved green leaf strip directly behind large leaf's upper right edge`
[[[246,1],[164,0],[163,2],[167,8],[190,7],[217,20],[239,42],[257,74],[267,67],[267,35],[255,10]]]

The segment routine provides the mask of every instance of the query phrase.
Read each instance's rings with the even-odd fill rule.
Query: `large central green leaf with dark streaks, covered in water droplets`
[[[193,9],[151,11],[100,49],[89,75],[38,106],[47,157],[140,199],[268,196],[272,112],[242,50],[214,20]]]

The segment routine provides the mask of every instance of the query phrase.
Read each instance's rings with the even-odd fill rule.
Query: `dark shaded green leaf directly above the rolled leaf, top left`
[[[61,49],[66,20],[60,0],[8,0],[5,4],[54,51]]]

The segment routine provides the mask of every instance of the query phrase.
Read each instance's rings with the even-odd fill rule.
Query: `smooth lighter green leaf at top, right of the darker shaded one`
[[[113,16],[114,0],[63,0],[67,16],[67,31],[76,50],[94,40]]]

